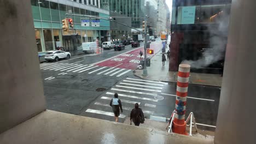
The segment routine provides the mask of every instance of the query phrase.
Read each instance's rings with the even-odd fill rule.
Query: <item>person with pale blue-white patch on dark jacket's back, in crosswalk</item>
[[[120,115],[119,107],[121,109],[121,112],[123,113],[123,108],[122,108],[121,100],[118,99],[118,93],[114,94],[114,98],[110,100],[110,104],[109,105],[112,107],[112,110],[114,112],[115,122],[118,122],[118,117]]]

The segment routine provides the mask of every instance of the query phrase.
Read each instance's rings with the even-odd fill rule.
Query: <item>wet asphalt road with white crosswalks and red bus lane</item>
[[[147,118],[166,121],[175,107],[176,83],[145,81],[133,76],[138,63],[131,60],[139,60],[136,53],[141,49],[142,46],[129,45],[122,51],[104,50],[97,55],[40,64],[47,109],[114,121],[109,101],[118,93],[124,109],[119,122],[130,115],[135,103],[139,103]],[[112,61],[117,58],[125,61]],[[189,85],[188,95],[186,118],[193,112],[200,124],[197,126],[214,130],[220,89]]]

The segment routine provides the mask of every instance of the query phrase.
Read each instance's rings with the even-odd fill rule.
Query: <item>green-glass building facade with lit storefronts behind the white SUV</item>
[[[100,0],[31,0],[31,8],[38,52],[55,50],[58,46],[64,47],[66,51],[76,51],[83,42],[110,39],[109,21],[100,20],[99,27],[85,27],[81,25],[84,16],[66,15],[109,18],[109,11],[100,9]],[[61,20],[67,17],[73,19],[74,28],[71,32],[62,31]]]

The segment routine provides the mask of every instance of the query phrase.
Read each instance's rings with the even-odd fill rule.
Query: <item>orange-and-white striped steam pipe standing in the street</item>
[[[186,132],[185,113],[188,96],[190,65],[179,64],[176,90],[176,105],[173,121],[173,133],[188,135]]]

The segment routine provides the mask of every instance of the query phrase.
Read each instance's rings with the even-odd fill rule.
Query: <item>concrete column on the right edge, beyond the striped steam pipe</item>
[[[255,0],[232,1],[214,143],[256,142]]]

